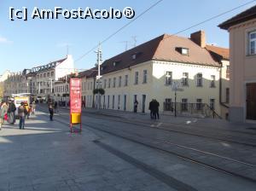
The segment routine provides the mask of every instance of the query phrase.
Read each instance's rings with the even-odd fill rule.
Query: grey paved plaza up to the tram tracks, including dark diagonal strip
[[[121,125],[97,117],[84,114],[81,134],[69,132],[65,110],[60,110],[52,122],[48,113],[38,112],[36,117],[26,120],[25,130],[19,130],[18,124],[4,124],[0,131],[0,190],[241,191],[255,188],[254,182],[93,129],[90,122],[101,127],[110,125],[113,129]],[[132,124],[124,127],[134,128]],[[143,131],[137,131],[140,132]],[[145,136],[148,133],[145,131]]]

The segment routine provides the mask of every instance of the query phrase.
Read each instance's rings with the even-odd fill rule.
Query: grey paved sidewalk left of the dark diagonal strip
[[[71,134],[68,119],[67,125],[49,121],[48,113],[38,111],[26,120],[25,130],[17,123],[3,124],[0,190],[174,190],[99,147],[94,142],[99,139],[85,128],[82,134]]]

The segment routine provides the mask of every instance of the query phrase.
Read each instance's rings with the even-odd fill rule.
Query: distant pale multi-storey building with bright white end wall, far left
[[[59,78],[74,72],[72,55],[47,65],[25,69],[23,72],[10,73],[4,81],[4,96],[31,93],[34,96],[52,98],[54,85]]]

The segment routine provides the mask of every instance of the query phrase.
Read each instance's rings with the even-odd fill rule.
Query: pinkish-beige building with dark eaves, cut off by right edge
[[[230,120],[256,120],[256,6],[219,25],[230,32]]]

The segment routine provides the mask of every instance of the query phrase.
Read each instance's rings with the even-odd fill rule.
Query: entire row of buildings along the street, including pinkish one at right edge
[[[102,107],[148,113],[152,99],[160,112],[221,116],[232,121],[256,120],[256,6],[225,21],[219,27],[230,32],[230,49],[206,42],[203,31],[189,38],[163,34],[103,61],[97,68],[75,73],[73,59],[10,73],[4,80],[4,96],[32,93],[69,100],[69,78],[82,79],[85,107]],[[178,87],[178,88],[177,88]],[[95,89],[104,94],[94,95]],[[99,101],[98,101],[99,100]]]

